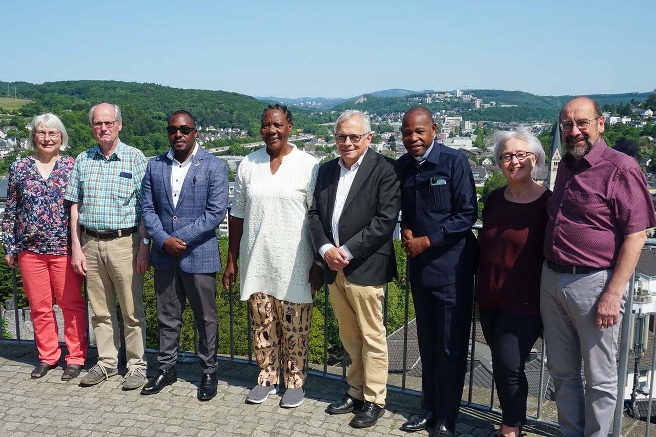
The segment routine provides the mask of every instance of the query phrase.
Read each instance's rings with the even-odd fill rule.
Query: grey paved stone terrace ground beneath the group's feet
[[[148,362],[151,377],[157,370],[154,354]],[[408,436],[399,428],[419,405],[417,396],[390,392],[384,416],[375,426],[358,430],[348,427],[351,414],[325,412],[346,391],[344,383],[326,377],[310,375],[303,404],[283,409],[279,394],[260,405],[244,403],[257,374],[249,364],[222,362],[216,398],[199,402],[197,363],[176,365],[178,381],[152,396],[121,390],[121,375],[91,387],[81,387],[75,379],[61,381],[62,367],[32,380],[37,363],[32,344],[0,343],[0,436]],[[492,411],[463,407],[457,434],[486,437],[499,419]],[[526,431],[529,436],[561,435],[548,423],[531,422]],[[426,435],[417,432],[413,437]]]

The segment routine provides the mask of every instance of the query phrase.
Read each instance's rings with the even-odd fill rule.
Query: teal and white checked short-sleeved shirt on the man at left
[[[95,146],[77,156],[66,200],[80,203],[79,224],[96,232],[138,226],[146,157],[119,142],[106,158]]]

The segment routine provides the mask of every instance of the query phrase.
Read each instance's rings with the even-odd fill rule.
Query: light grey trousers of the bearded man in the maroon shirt
[[[547,367],[556,387],[558,423],[566,437],[606,437],[615,412],[619,323],[596,327],[597,303],[612,274],[613,270],[562,274],[543,264],[540,310]],[[621,313],[626,299],[625,292]]]

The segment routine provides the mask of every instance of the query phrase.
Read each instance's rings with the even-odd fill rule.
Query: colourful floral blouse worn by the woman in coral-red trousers
[[[33,157],[9,166],[7,205],[2,220],[5,254],[31,251],[70,255],[71,203],[64,200],[75,158],[62,156],[44,180]]]

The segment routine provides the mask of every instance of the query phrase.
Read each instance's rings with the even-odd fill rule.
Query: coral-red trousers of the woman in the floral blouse
[[[39,360],[56,364],[62,354],[55,318],[55,298],[64,315],[66,364],[84,364],[87,358],[87,312],[82,297],[82,276],[73,272],[71,257],[18,253],[18,268],[30,302],[34,340]]]

